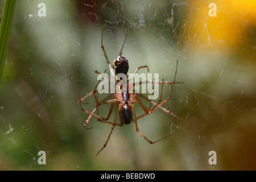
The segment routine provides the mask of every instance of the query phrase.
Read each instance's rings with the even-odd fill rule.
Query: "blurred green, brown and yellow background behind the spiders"
[[[38,15],[42,2],[45,17]],[[17,1],[0,90],[0,169],[255,170],[256,3],[214,1],[217,16],[210,17],[211,2]],[[193,125],[158,110],[139,119],[139,129],[157,140],[174,123],[171,137],[151,145],[134,123],[115,127],[96,156],[112,126],[92,118],[93,129],[82,127],[88,114],[77,104],[77,70],[85,96],[97,84],[93,71],[108,69],[102,29],[112,62],[127,28],[130,73],[148,65],[159,80],[172,81],[179,60],[176,81],[184,84],[164,107]],[[168,92],[164,85],[164,98]],[[92,111],[94,98],[87,102]],[[38,164],[39,151],[46,165]],[[216,151],[216,165],[208,163],[209,151]]]

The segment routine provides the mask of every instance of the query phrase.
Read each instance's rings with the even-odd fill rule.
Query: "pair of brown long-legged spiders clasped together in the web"
[[[122,45],[122,48],[121,48],[121,51],[119,52],[119,56],[115,58],[115,60],[113,61],[113,68],[114,68],[114,71],[115,73],[113,72],[113,69],[109,63],[109,59],[108,59],[108,56],[106,55],[106,51],[105,51],[105,48],[103,46],[103,30],[102,30],[102,33],[101,33],[101,49],[102,51],[104,52],[104,56],[105,56],[105,59],[106,59],[106,63],[108,64],[108,68],[110,70],[110,74],[112,74],[114,77],[117,76],[118,73],[123,73],[127,76],[127,72],[129,70],[129,63],[128,63],[128,60],[126,59],[126,57],[122,56],[122,50],[123,50],[123,46],[125,45],[125,41],[126,41],[126,38],[127,38],[127,35],[128,35],[128,32],[129,32],[129,29],[127,30],[126,32],[126,36],[125,36],[125,40],[123,42],[123,45]],[[177,61],[178,63],[178,61]],[[144,65],[144,66],[141,66],[141,67],[138,67],[135,72],[133,73],[133,75],[129,78],[129,81],[127,82],[127,86],[126,88],[122,88],[122,89],[125,89],[126,91],[128,91],[128,88],[132,88],[135,86],[136,83],[133,83],[132,85],[130,84],[129,85],[129,82],[130,80],[134,77],[135,73],[137,73],[139,71],[139,69],[142,69],[142,68],[146,68],[147,71],[149,72],[148,70],[148,66],[147,65]],[[106,71],[105,71],[106,72]],[[100,73],[98,71],[95,71],[96,74],[98,75],[102,75],[102,76],[105,76],[107,77],[110,81],[113,81],[115,82],[115,86],[117,86],[117,84],[120,84],[123,80],[120,79],[119,81],[114,81],[113,79],[111,79],[108,75],[106,75],[104,73]],[[180,119],[181,121],[185,121],[184,119],[178,117],[177,115],[175,115],[174,113],[172,113],[171,111],[165,109],[164,107],[162,107],[163,104],[165,104],[168,100],[170,100],[171,98],[171,94],[172,94],[172,89],[174,88],[174,84],[180,84],[180,83],[183,83],[183,82],[175,82],[175,78],[176,78],[176,74],[177,74],[177,64],[176,64],[176,71],[175,71],[175,76],[174,76],[174,81],[157,81],[158,84],[162,84],[162,91],[161,91],[161,95],[160,95],[160,99],[159,101],[156,103],[156,102],[153,102],[152,100],[149,100],[147,97],[143,96],[143,94],[141,93],[130,93],[130,92],[122,92],[121,90],[121,86],[118,86],[117,88],[117,91],[115,93],[112,93],[112,94],[109,94],[109,96],[105,97],[102,101],[98,101],[98,89],[97,89],[97,86],[98,84],[100,83],[101,80],[98,81],[98,84],[96,85],[96,87],[92,90],[92,92],[90,92],[89,94],[87,94],[85,97],[82,97],[80,98],[80,91],[79,91],[79,72],[77,71],[77,89],[78,89],[78,95],[79,95],[79,101],[78,103],[80,104],[80,107],[81,107],[81,110],[84,111],[85,113],[89,114],[89,117],[88,119],[86,119],[85,123],[84,123],[84,128],[86,130],[88,129],[92,129],[92,127],[88,128],[86,127],[90,121],[90,119],[92,117],[96,117],[98,119],[98,121],[100,122],[103,122],[103,123],[108,123],[110,125],[112,125],[112,129],[110,130],[110,133],[109,133],[109,136],[106,140],[106,142],[104,143],[104,146],[100,149],[100,151],[98,151],[97,155],[106,147],[106,145],[108,144],[109,142],[109,139],[110,139],[110,136],[112,135],[113,133],[113,130],[115,128],[115,126],[123,126],[123,123],[125,123],[126,125],[130,124],[131,122],[134,121],[135,123],[135,129],[137,131],[137,133],[139,135],[141,135],[141,137],[143,137],[144,139],[147,140],[148,143],[150,144],[153,144],[153,143],[156,143],[156,142],[159,142],[160,140],[163,140],[163,139],[166,139],[167,137],[169,137],[171,135],[168,134],[166,137],[163,137],[163,138],[160,138],[154,142],[152,142],[151,140],[149,140],[148,138],[146,138],[142,133],[141,131],[139,131],[139,128],[138,128],[138,123],[137,123],[137,120],[148,115],[148,114],[151,114],[153,111],[155,111],[156,109],[161,109],[163,110],[165,113],[171,115],[172,117],[175,117],[177,119]],[[128,78],[128,76],[127,76]],[[146,84],[146,83],[151,83],[151,84],[154,84],[155,81],[152,81],[152,80],[147,80],[146,82],[142,82],[140,81],[139,84],[142,85],[142,84]],[[156,83],[156,82],[155,82]],[[171,91],[170,91],[170,94],[169,96],[162,102],[162,94],[163,94],[163,84],[171,84]],[[154,89],[154,88],[153,88]],[[133,89],[133,91],[135,91]],[[86,100],[86,98],[90,97],[90,96],[94,96],[95,100],[96,100],[96,106],[94,107],[94,109],[89,112],[87,110],[85,110],[83,107],[82,107],[82,104],[88,104],[88,103],[84,103],[83,101]],[[139,98],[141,97],[143,100],[146,100],[147,102],[150,103],[150,106],[149,107],[146,107],[142,104],[141,102],[141,99]],[[112,100],[109,100],[110,98],[112,98]],[[134,109],[134,102],[136,104],[138,104],[144,111],[144,114],[140,115],[139,117],[136,116],[136,113],[135,113],[135,109]],[[114,122],[111,122],[109,121],[109,118],[110,118],[110,115],[112,114],[112,111],[113,111],[113,108],[114,108],[114,104],[117,104],[118,108],[117,108],[117,113],[115,114],[115,118],[114,118]],[[109,110],[109,113],[108,113],[108,116],[106,118],[104,117],[101,117],[100,115],[98,114],[94,114],[96,111],[98,113],[98,107],[100,107],[101,105],[105,105],[105,104],[111,104],[110,105],[110,110]],[[150,108],[151,107],[151,104],[154,105],[154,107]],[[120,123],[117,123],[117,119],[118,119],[118,115],[119,115],[119,118],[120,118]],[[185,121],[187,122],[187,121]]]

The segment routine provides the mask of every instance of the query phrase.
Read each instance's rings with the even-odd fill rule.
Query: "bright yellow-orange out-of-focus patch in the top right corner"
[[[216,16],[209,16],[210,3],[216,4]],[[211,45],[209,49],[217,48],[218,51],[226,51],[226,48],[239,46],[241,42],[249,43],[253,40],[253,29],[256,24],[256,1],[255,0],[228,0],[228,1],[205,1],[191,3],[192,17],[188,20],[189,42],[192,47],[204,47]],[[255,43],[252,45],[255,49]],[[254,51],[255,52],[255,51]]]

